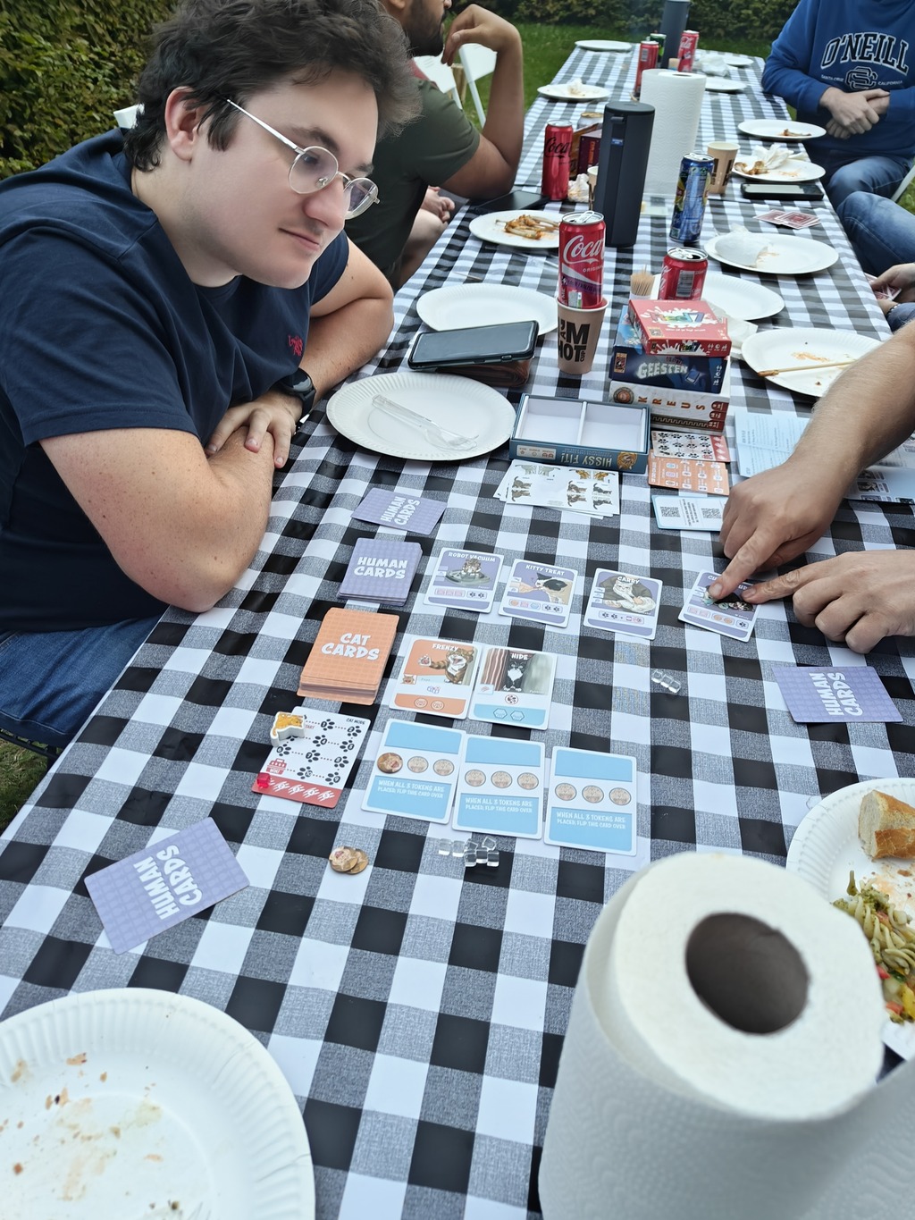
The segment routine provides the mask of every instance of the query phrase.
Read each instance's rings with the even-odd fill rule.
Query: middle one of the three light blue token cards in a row
[[[539,838],[543,833],[540,742],[468,737],[451,826],[456,831]]]

